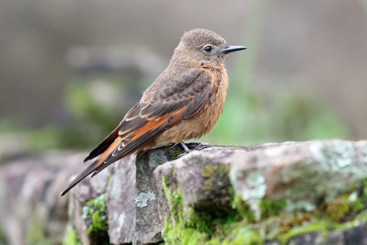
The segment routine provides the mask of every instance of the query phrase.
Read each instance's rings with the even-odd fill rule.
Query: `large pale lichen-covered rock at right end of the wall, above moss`
[[[261,198],[286,199],[288,211],[315,211],[367,175],[364,141],[286,142],[261,152],[236,153],[230,179],[238,195],[259,212]],[[308,188],[305,188],[307,186]]]

